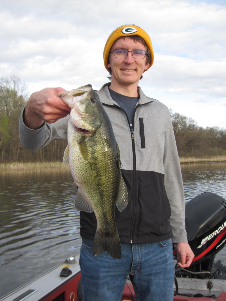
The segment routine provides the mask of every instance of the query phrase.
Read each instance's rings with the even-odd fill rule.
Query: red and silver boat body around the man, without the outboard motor
[[[3,296],[0,301],[82,301],[79,254],[70,260],[69,262],[66,260],[17,290]],[[63,271],[66,273],[62,276]],[[226,280],[178,278],[177,282],[178,295],[174,296],[174,301],[226,301]],[[208,290],[207,284],[210,283],[211,289]],[[195,295],[197,293],[206,297],[197,297]],[[194,295],[196,297],[192,297]],[[212,295],[215,295],[215,298],[207,298],[207,296]],[[135,293],[130,281],[127,281],[125,285],[122,300],[135,300]]]

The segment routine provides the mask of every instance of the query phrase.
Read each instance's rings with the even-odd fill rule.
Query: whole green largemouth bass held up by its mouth
[[[91,85],[66,92],[61,99],[71,107],[63,163],[69,161],[78,186],[74,206],[95,213],[93,255],[107,251],[119,259],[121,244],[115,225],[115,203],[119,211],[123,211],[128,193],[111,122]]]

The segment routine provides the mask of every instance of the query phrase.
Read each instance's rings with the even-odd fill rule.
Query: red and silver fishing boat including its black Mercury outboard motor
[[[226,200],[205,192],[186,204],[185,216],[188,242],[195,257],[190,267],[183,269],[177,265],[173,250],[174,301],[226,301],[226,267],[220,260],[214,261],[226,245]],[[0,301],[82,301],[79,256],[66,259]],[[129,275],[121,300],[136,300]]]

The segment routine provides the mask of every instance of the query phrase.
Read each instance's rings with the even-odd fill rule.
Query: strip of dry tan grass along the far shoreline
[[[224,163],[226,156],[212,156],[204,158],[180,157],[180,164],[192,163]],[[28,163],[0,163],[0,172],[49,172],[49,171],[69,171],[68,164],[57,162],[28,162]]]

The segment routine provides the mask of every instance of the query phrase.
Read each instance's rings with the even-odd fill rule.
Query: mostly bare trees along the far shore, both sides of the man
[[[27,86],[20,78],[12,75],[0,79],[0,162],[61,161],[67,141],[52,141],[36,151],[21,145],[18,122],[27,100]],[[204,129],[192,118],[172,111],[171,120],[180,157],[226,155],[226,129]]]

